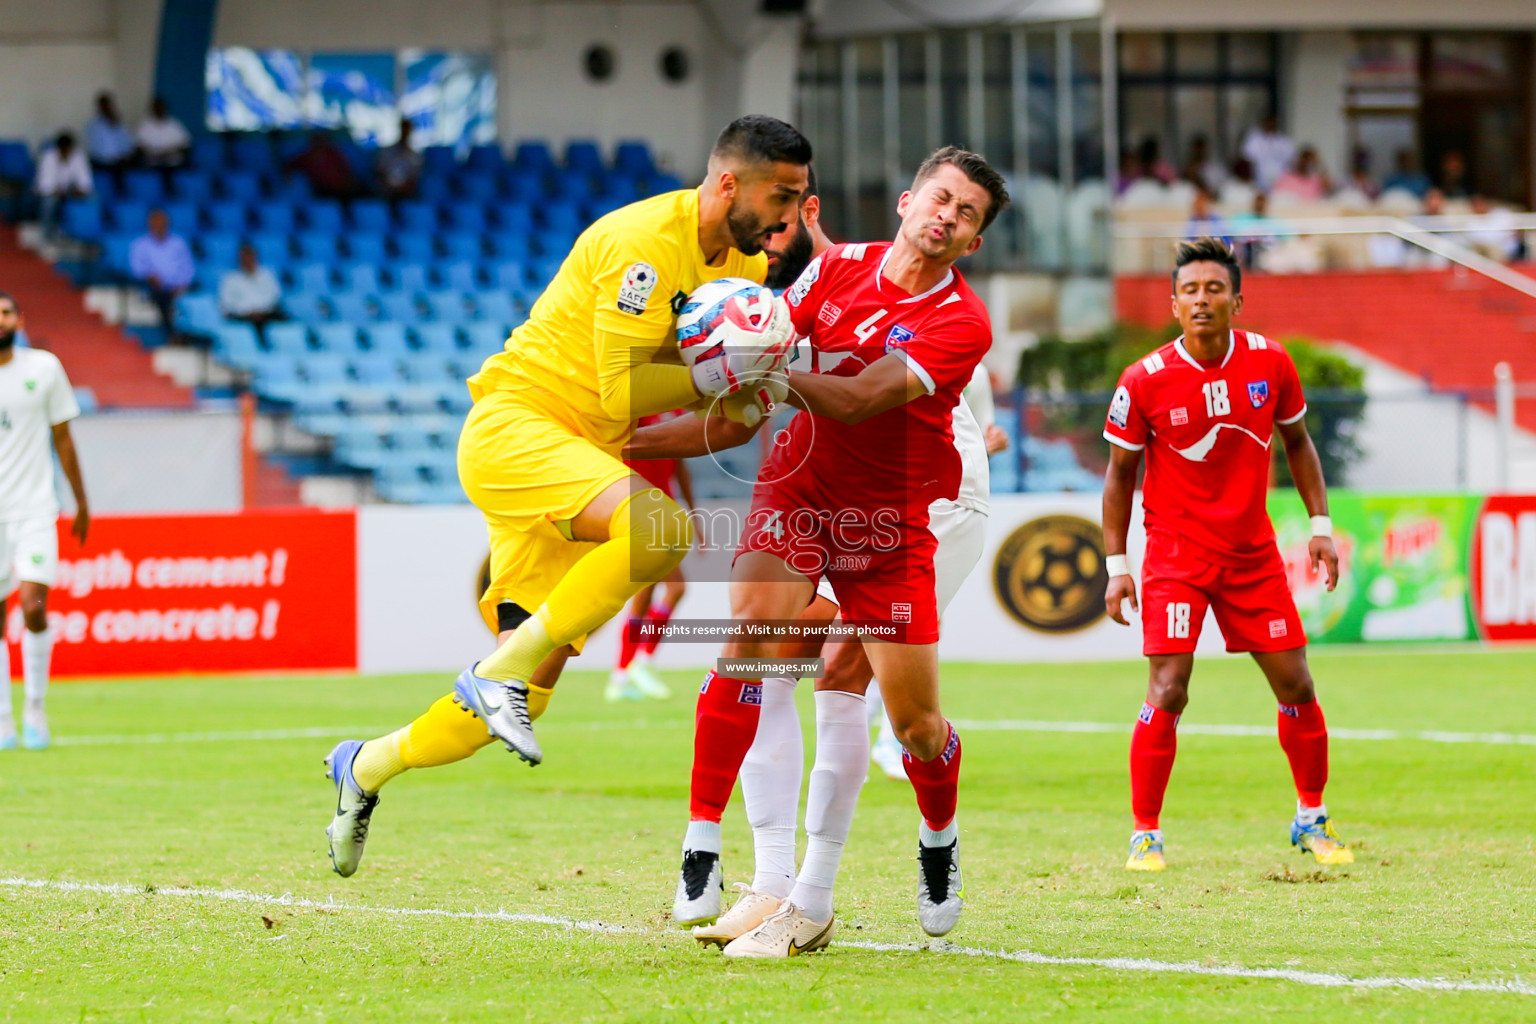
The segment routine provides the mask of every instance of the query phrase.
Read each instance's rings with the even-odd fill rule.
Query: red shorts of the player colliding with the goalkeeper
[[[843,622],[894,643],[937,643],[934,551],[938,542],[905,510],[846,508],[788,481],[757,484],[736,557],[768,551],[811,583],[823,576]]]

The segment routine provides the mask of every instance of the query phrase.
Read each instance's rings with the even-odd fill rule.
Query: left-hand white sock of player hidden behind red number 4
[[[753,890],[783,900],[794,884],[805,743],[793,679],[765,679],[757,737],[742,761],[742,801],[753,826]]]

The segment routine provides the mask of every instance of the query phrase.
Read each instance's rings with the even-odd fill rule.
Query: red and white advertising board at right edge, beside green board
[[[1536,494],[1484,500],[1468,562],[1482,637],[1536,640]]]

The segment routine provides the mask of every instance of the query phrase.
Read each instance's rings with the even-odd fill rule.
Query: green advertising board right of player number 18
[[[1312,573],[1312,527],[1295,491],[1270,491],[1269,513],[1290,591],[1313,643],[1471,640],[1467,553],[1481,497],[1329,493],[1339,583]]]

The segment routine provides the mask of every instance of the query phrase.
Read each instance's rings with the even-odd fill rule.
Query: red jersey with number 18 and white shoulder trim
[[[1201,365],[1177,338],[1120,375],[1104,438],[1146,448],[1147,533],[1187,539],[1223,565],[1275,556],[1264,508],[1275,424],[1307,411],[1296,364],[1279,344],[1233,330],[1227,355]]]

